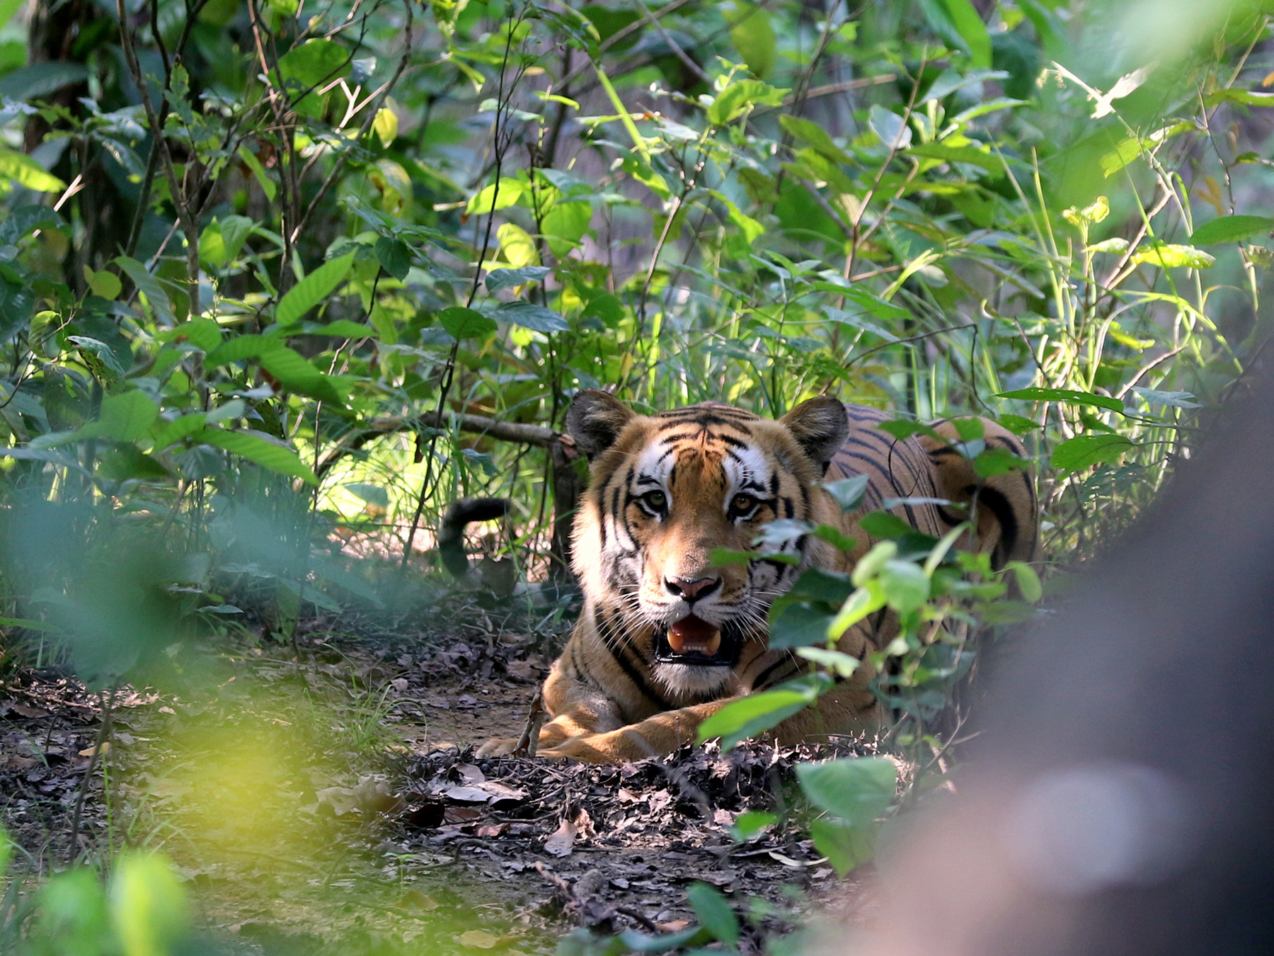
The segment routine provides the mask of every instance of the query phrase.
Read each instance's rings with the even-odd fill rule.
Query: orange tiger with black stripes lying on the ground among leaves
[[[768,608],[805,569],[852,570],[875,543],[860,520],[887,498],[905,498],[891,502],[893,514],[935,538],[964,521],[976,498],[976,528],[961,547],[989,552],[995,567],[1034,558],[1029,470],[984,479],[953,447],[953,423],[896,438],[878,427],[888,418],[826,395],[767,419],[713,402],[647,416],[605,391],[577,393],[566,430],[590,463],[572,534],[583,607],[541,688],[536,752],[592,764],[668,755],[727,702],[805,673],[809,663],[792,650],[768,649]],[[987,447],[1026,456],[1008,430],[987,419],[982,428]],[[823,486],[860,474],[864,497],[845,512]],[[804,534],[781,546],[795,562],[757,552],[748,563],[713,565],[716,548],[755,551],[776,519],[832,525],[855,547],[846,553]],[[850,627],[837,648],[861,662],[854,674],[773,737],[879,728],[887,714],[869,653],[894,636],[888,612]],[[516,746],[492,739],[479,755]]]

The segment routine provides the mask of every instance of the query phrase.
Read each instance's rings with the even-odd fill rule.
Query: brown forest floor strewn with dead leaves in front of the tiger
[[[549,953],[576,927],[684,928],[697,880],[734,904],[744,952],[820,902],[856,922],[855,877],[837,881],[798,827],[734,829],[741,812],[782,815],[813,751],[476,758],[521,730],[562,635],[471,602],[431,617],[211,642],[187,668],[201,691],[115,695],[98,758],[102,695],[10,672],[0,821],[27,872],[64,868],[73,831],[90,860],[162,848],[211,952]]]

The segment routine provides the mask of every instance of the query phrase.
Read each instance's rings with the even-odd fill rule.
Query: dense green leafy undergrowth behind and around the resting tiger
[[[215,635],[401,622],[433,605],[433,530],[465,495],[513,501],[483,549],[559,581],[583,463],[555,430],[581,387],[766,416],[829,393],[899,432],[995,418],[1029,449],[1043,558],[1084,560],[1274,331],[1271,15],[0,0],[0,664],[189,682]],[[970,428],[981,469],[1022,464]],[[911,616],[882,692],[941,770],[921,720],[964,636],[1029,612],[931,543],[873,562],[798,595],[801,621]],[[1017,571],[1028,598],[1049,577]],[[519,595],[533,618],[569,603]],[[941,654],[938,619],[964,635]],[[851,868],[883,807],[814,803]],[[117,868],[103,920],[168,892],[147,865]]]

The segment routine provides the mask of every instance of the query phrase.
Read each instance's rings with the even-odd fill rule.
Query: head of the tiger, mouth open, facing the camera
[[[591,463],[575,520],[573,566],[608,641],[624,640],[669,690],[719,691],[766,613],[801,569],[822,563],[813,535],[771,548],[784,560],[713,562],[755,551],[776,519],[828,520],[814,483],[848,433],[845,405],[815,398],[778,421],[705,403],[637,414],[581,391],[567,430]]]

